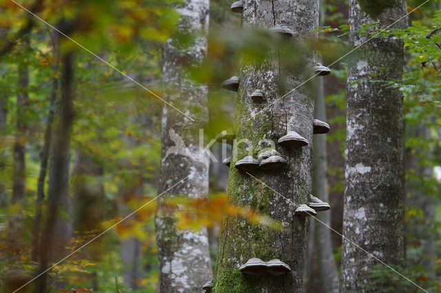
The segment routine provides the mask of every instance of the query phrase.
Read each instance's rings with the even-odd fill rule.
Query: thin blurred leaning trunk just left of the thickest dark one
[[[52,68],[54,72],[59,69],[59,58],[58,58],[58,48],[56,34],[52,36],[52,55],[54,56],[54,65]],[[50,141],[52,135],[52,123],[54,122],[55,107],[57,104],[57,94],[58,94],[58,77],[54,75],[52,78],[52,91],[50,93],[50,104],[48,112],[48,124],[46,124],[46,130],[44,135],[43,149],[40,153],[40,173],[37,183],[37,201],[35,202],[35,216],[34,216],[34,226],[32,228],[32,261],[38,261],[39,254],[39,237],[40,237],[40,221],[41,221],[41,206],[44,200],[44,183],[46,180],[46,171],[48,169],[49,151],[50,151]]]

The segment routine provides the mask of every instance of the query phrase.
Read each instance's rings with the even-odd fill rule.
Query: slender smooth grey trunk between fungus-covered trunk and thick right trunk
[[[316,96],[316,118],[326,121],[325,94],[323,92],[323,83],[320,79],[319,92]],[[327,180],[327,152],[326,136],[314,135],[314,167],[313,167],[313,195],[320,198],[323,202],[329,202],[328,180]],[[317,214],[320,221],[331,226],[332,210],[320,212]],[[331,230],[319,221],[315,221],[315,247],[318,257],[318,267],[320,268],[320,279],[322,290],[324,292],[338,292],[338,271],[334,261],[334,252],[332,250]]]

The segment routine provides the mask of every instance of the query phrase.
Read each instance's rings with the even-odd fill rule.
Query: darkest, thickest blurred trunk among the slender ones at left
[[[65,256],[65,244],[72,236],[70,224],[70,195],[69,195],[69,163],[70,136],[74,120],[74,54],[67,52],[61,58],[63,72],[61,78],[61,102],[59,121],[53,134],[51,144],[49,188],[48,188],[48,217],[41,241],[40,272],[43,272],[50,261],[58,261]],[[63,215],[63,218],[60,217]],[[40,276],[35,292],[45,292],[48,274]]]

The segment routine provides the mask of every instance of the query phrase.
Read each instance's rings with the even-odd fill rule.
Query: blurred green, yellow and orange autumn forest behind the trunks
[[[407,1],[408,11],[424,1]],[[60,116],[61,65],[72,58],[74,88],[70,169],[70,204],[58,215],[72,229],[59,259],[75,251],[103,230],[157,195],[161,160],[162,46],[176,30],[178,14],[172,1],[20,1],[42,19],[69,34],[82,47],[54,33],[13,1],[0,2],[0,285],[17,272],[32,275],[39,268],[42,230],[48,222],[51,199],[49,173],[54,154],[48,135]],[[192,78],[209,86],[207,142],[232,127],[236,99],[220,88],[236,74],[239,59],[259,58],[266,40],[240,32],[240,15],[231,3],[212,1],[209,10],[207,59]],[[324,0],[318,50],[329,64],[347,49],[347,1]],[[404,94],[404,170],[406,268],[400,270],[424,288],[441,290],[441,2],[429,1],[409,14],[409,29],[395,32],[406,47],[404,78],[390,80]],[[60,47],[56,38],[60,37]],[[191,36],[178,36],[184,47]],[[251,49],[250,49],[251,48]],[[63,54],[66,56],[66,54]],[[67,58],[67,57],[66,57]],[[327,164],[331,227],[342,232],[344,151],[346,135],[347,60],[331,67],[323,80],[327,122]],[[371,76],[375,80],[375,76]],[[60,118],[61,117],[61,118]],[[64,116],[66,118],[68,116]],[[69,116],[70,117],[70,116]],[[69,129],[52,129],[57,131]],[[49,133],[49,134],[48,134]],[[61,135],[62,137],[63,135]],[[52,146],[53,147],[53,146]],[[218,163],[210,166],[209,200],[178,202],[187,213],[177,219],[180,228],[209,227],[212,263],[216,263],[220,221],[240,214],[256,224],[265,219],[256,211],[230,206],[225,187],[228,171],[220,144],[212,146]],[[63,178],[61,178],[63,179]],[[176,204],[170,203],[170,204]],[[84,287],[107,292],[154,292],[158,257],[153,216],[156,202],[116,225],[50,271],[66,290]],[[18,225],[18,226],[17,226]],[[10,229],[14,226],[16,229]],[[61,233],[63,234],[63,233]],[[63,235],[68,235],[64,233]],[[314,227],[308,241],[305,288],[322,292],[314,250]],[[341,237],[331,234],[332,251],[340,267]],[[64,243],[60,241],[60,243]],[[44,247],[43,247],[44,248]],[[398,283],[414,287],[379,265],[372,272],[390,289]],[[23,280],[15,280],[23,283]],[[118,288],[116,288],[118,287]]]

